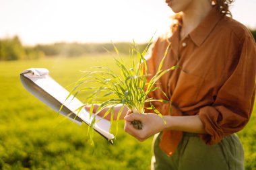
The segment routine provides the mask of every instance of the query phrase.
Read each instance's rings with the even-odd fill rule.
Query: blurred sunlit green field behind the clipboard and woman
[[[82,77],[92,65],[113,67],[112,56],[46,58],[0,62],[0,169],[150,169],[149,138],[138,142],[123,132],[115,144],[95,134],[90,146],[87,126],[58,116],[20,83],[20,72],[31,67],[49,69],[64,87]],[[238,136],[245,147],[246,169],[256,169],[255,110]]]

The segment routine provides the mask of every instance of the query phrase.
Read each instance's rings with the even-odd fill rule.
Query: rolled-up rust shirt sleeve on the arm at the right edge
[[[214,104],[199,110],[199,118],[207,132],[200,137],[206,144],[216,144],[224,136],[243,129],[253,110],[256,72],[253,38],[245,37],[235,55]]]

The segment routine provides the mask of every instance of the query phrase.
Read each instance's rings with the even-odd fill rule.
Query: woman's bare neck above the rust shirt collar
[[[210,1],[192,1],[191,4],[183,10],[183,26],[181,29],[181,40],[192,32],[205,16],[212,9]]]

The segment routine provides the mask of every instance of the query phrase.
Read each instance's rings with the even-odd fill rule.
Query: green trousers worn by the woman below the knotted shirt
[[[207,145],[196,134],[184,133],[177,150],[168,157],[159,147],[161,134],[153,142],[153,170],[243,170],[244,151],[236,134],[218,144]]]

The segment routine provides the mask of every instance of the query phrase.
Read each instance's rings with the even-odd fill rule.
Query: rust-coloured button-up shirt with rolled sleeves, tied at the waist
[[[200,135],[201,139],[216,144],[224,136],[243,129],[251,116],[255,99],[255,40],[243,24],[222,15],[215,7],[183,40],[179,31],[156,40],[148,58],[150,72],[156,73],[171,43],[163,69],[174,65],[181,69],[170,71],[158,82],[172,101],[171,115],[199,115],[207,132]],[[165,98],[160,91],[151,95]],[[170,105],[155,105],[162,114],[169,114]],[[162,149],[171,155],[182,133],[165,133]],[[174,144],[169,140],[175,140]]]

